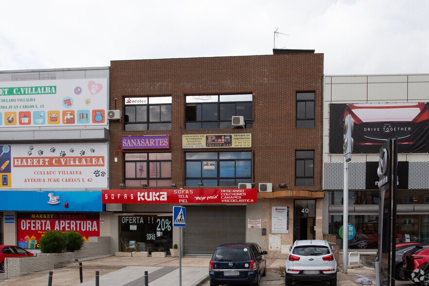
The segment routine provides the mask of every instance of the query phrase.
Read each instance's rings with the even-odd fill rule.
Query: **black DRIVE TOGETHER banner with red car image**
[[[429,152],[429,103],[331,104],[329,152],[343,153],[344,118],[354,121],[353,153],[376,154],[388,138],[398,153]]]

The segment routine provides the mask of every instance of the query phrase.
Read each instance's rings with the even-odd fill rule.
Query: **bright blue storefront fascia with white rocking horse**
[[[103,212],[104,205],[101,192],[1,191],[0,211]]]

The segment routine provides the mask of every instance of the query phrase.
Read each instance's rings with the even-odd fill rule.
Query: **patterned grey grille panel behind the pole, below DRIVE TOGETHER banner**
[[[349,162],[349,189],[365,190],[365,162]],[[324,164],[323,189],[342,190],[344,187],[343,162]]]

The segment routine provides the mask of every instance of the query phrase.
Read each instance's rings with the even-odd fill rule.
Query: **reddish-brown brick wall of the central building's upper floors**
[[[170,135],[172,182],[184,187],[182,135],[226,132],[185,129],[185,96],[252,93],[253,128],[227,129],[229,133],[252,134],[252,181],[272,182],[274,192],[284,190],[278,187],[279,183],[287,184],[293,191],[322,191],[322,75],[323,54],[111,61],[109,108],[124,111],[125,97],[172,96],[172,127],[160,131],[125,131],[124,121],[110,121],[110,189],[119,189],[124,182],[121,136],[163,134]],[[315,127],[295,127],[297,91],[315,91]],[[294,186],[295,150],[315,150],[314,186]]]

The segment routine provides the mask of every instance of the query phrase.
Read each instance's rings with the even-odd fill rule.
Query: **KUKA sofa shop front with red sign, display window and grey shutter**
[[[256,189],[103,190],[103,204],[125,204],[119,221],[119,250],[167,252],[179,243],[173,228],[173,206],[186,207],[183,254],[212,254],[228,241],[246,241],[247,205],[256,203]],[[130,212],[132,210],[132,212]]]

